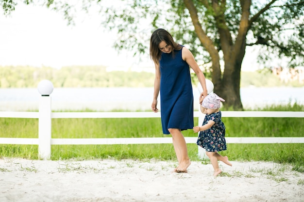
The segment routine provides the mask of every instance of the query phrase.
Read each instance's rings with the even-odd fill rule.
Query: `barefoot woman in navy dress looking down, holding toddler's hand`
[[[171,34],[157,29],[150,40],[150,56],[155,64],[152,111],[158,112],[160,92],[161,121],[164,134],[171,134],[178,160],[176,172],[187,172],[191,164],[182,130],[193,128],[193,92],[190,68],[197,75],[207,96],[206,80],[192,53],[174,42]]]

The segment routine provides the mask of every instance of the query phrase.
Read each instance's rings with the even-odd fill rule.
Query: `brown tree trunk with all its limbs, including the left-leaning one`
[[[189,11],[198,38],[203,47],[205,47],[210,54],[212,60],[212,82],[214,84],[214,92],[225,99],[225,107],[234,110],[243,110],[240,98],[240,73],[241,64],[245,55],[251,0],[241,1],[242,16],[235,42],[232,40],[231,33],[226,25],[224,7],[221,7],[221,4],[219,4],[218,1],[212,1],[212,7],[205,4],[208,9],[213,9],[215,13],[214,17],[220,34],[221,50],[223,51],[225,62],[223,75],[221,75],[220,69],[219,48],[215,47],[213,41],[207,36],[206,32],[203,31],[193,0],[184,0],[184,3]]]

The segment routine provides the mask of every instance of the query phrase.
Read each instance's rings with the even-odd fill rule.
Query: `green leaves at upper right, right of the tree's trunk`
[[[253,4],[253,14],[260,10],[259,4]],[[268,61],[270,55],[276,55],[279,58],[287,56],[290,59],[290,67],[302,64],[303,61],[299,59],[303,59],[300,56],[304,43],[304,24],[301,20],[303,15],[303,1],[288,0],[266,5],[262,16],[254,18],[255,22],[251,26],[252,36],[257,39],[254,40],[254,44],[263,45],[263,50],[269,52],[269,54],[261,52],[259,58],[262,61]]]

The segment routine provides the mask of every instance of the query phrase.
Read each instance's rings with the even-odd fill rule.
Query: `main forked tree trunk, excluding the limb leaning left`
[[[215,86],[215,92],[225,99],[224,106],[234,110],[243,110],[240,98],[241,64],[245,56],[246,35],[248,31],[248,18],[250,14],[251,0],[241,1],[242,15],[238,34],[235,42],[226,26],[224,9],[219,7],[217,1],[212,1],[212,6],[217,12],[216,24],[220,33],[220,43],[224,55],[225,68],[220,85]]]

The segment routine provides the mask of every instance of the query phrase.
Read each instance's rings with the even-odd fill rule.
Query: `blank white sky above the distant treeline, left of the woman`
[[[113,48],[116,33],[102,28],[100,16],[82,15],[68,26],[62,14],[41,6],[19,3],[10,16],[1,11],[0,65],[154,67],[149,55],[139,62],[133,53],[118,53]],[[258,68],[252,55],[245,55],[243,71]]]

